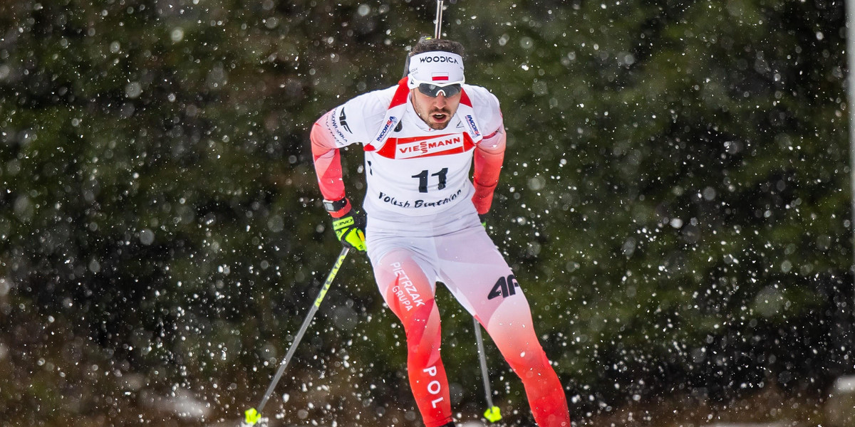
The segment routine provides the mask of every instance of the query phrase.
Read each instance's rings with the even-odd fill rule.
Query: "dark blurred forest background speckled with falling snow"
[[[491,234],[575,422],[703,425],[774,395],[752,419],[853,425],[822,409],[855,356],[844,3],[446,5],[509,135]],[[340,249],[310,126],[397,82],[435,8],[0,3],[0,425],[256,405]],[[439,304],[455,409],[478,418],[471,318]],[[351,256],[265,412],[421,425],[403,341]],[[533,424],[486,343],[504,423]]]

